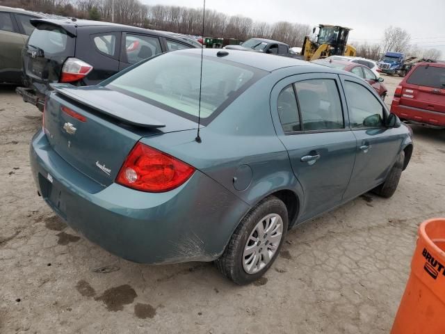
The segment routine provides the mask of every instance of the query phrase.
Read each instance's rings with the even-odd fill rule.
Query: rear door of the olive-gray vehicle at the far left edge
[[[0,12],[0,82],[20,82],[21,53],[25,38],[20,33],[13,15]]]

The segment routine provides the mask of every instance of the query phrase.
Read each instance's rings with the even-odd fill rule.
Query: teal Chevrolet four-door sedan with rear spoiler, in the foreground
[[[412,132],[362,79],[204,49],[200,89],[200,68],[201,50],[188,49],[97,86],[54,84],[31,166],[74,230],[134,262],[215,261],[245,284],[290,228],[366,191],[396,191]]]

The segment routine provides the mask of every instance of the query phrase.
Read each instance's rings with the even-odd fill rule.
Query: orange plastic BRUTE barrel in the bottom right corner
[[[445,333],[445,218],[421,223],[391,334]]]

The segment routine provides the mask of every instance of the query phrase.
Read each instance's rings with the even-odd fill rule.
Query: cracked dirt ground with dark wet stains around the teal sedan
[[[398,81],[385,76],[387,103]],[[445,132],[413,127],[392,198],[366,194],[291,230],[252,285],[211,263],[134,264],[37,196],[28,148],[40,124],[35,107],[0,87],[0,333],[389,333],[416,228],[445,216]]]

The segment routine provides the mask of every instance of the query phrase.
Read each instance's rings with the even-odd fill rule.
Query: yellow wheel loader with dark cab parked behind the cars
[[[331,26],[320,24],[312,31],[314,37],[305,37],[301,55],[305,61],[314,61],[328,56],[355,56],[356,50],[352,45],[347,45],[350,28],[344,26]]]

